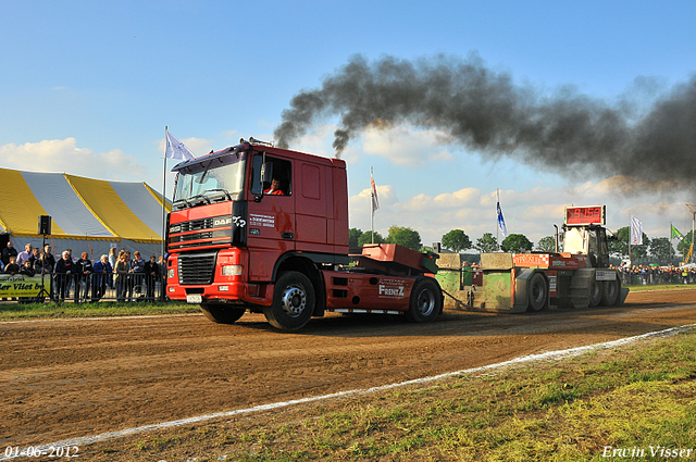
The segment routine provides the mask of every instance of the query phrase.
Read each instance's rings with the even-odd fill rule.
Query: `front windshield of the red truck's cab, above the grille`
[[[246,152],[210,155],[179,170],[174,209],[238,199],[244,189],[246,160]]]

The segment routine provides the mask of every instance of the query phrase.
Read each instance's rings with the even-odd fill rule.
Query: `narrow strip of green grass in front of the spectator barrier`
[[[98,303],[0,303],[0,321],[54,319],[54,317],[92,317],[92,316],[128,316],[146,314],[200,313],[197,304],[184,302],[111,302]]]

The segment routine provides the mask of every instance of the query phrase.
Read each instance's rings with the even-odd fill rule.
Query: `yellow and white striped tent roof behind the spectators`
[[[171,203],[166,201],[166,211]],[[64,173],[0,168],[0,240],[8,237],[17,251],[27,242],[39,246],[40,215],[51,216],[47,244],[53,253],[72,249],[92,259],[111,247],[161,253],[162,196],[146,183],[109,182]]]

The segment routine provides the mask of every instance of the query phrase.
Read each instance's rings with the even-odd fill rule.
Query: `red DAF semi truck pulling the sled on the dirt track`
[[[325,312],[443,310],[435,254],[395,246],[348,253],[346,163],[244,139],[177,164],[167,215],[167,296],[231,324],[263,312],[296,330]]]

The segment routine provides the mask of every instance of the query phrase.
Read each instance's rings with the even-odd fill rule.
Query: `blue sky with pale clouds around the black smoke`
[[[355,54],[476,53],[517,84],[548,93],[570,86],[610,102],[647,79],[649,101],[694,75],[695,13],[693,1],[4,0],[0,166],[145,180],[160,190],[164,126],[196,154],[240,137],[270,140],[290,99]],[[319,121],[291,147],[333,155],[337,123]],[[606,203],[610,228],[634,214],[651,237],[668,236],[670,222],[691,227],[684,202],[693,191],[621,196],[610,175],[493,162],[418,127],[365,132],[344,159],[351,226],[370,228],[374,165],[375,228],[410,226],[426,245],[452,228],[473,239],[495,234],[497,188],[509,232],[533,241],[550,235],[571,203]]]

